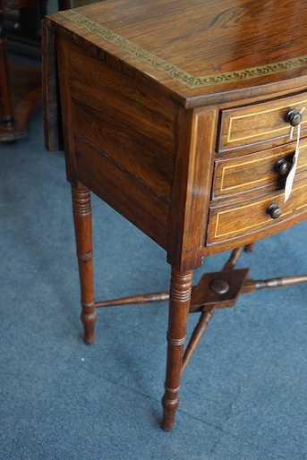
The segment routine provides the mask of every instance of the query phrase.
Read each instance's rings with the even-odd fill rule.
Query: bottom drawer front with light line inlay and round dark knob
[[[246,236],[297,216],[307,209],[307,182],[296,183],[289,200],[284,203],[284,192],[269,192],[254,200],[239,201],[225,206],[211,206],[207,243],[222,243]],[[273,219],[267,213],[270,205],[282,209],[281,216]],[[276,231],[278,231],[276,229]],[[260,235],[260,238],[264,235]]]

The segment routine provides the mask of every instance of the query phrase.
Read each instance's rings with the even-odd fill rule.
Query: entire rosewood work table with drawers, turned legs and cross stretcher
[[[169,300],[165,430],[213,313],[307,281],[235,268],[307,217],[306,23],[305,0],[106,0],[43,22],[46,146],[64,147],[72,184],[85,342],[97,308]],[[166,251],[169,293],[95,299],[90,191]],[[204,257],[228,250],[192,287]],[[183,353],[189,311],[200,321]]]

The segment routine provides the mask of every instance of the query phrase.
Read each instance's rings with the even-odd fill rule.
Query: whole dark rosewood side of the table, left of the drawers
[[[166,249],[174,103],[70,40],[58,40],[64,129],[71,133],[68,178],[87,185]]]

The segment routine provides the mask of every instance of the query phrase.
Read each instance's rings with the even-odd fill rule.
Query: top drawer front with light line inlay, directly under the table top
[[[290,109],[300,112],[307,108],[307,94],[281,98],[253,106],[222,111],[218,151],[259,145],[277,141],[278,145],[290,141],[291,125],[285,121]],[[303,114],[302,135],[307,129],[307,111]]]

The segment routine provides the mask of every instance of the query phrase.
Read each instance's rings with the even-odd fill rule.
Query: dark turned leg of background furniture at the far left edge
[[[14,118],[5,51],[5,38],[6,30],[4,28],[3,16],[0,14],[0,124],[5,127],[10,127],[14,124]]]

